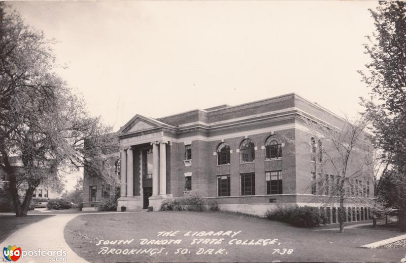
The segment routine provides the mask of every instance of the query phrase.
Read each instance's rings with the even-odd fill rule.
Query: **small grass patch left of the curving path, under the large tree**
[[[24,217],[16,217],[11,214],[0,215],[0,243],[20,228],[36,223],[50,216],[52,215],[28,215]]]

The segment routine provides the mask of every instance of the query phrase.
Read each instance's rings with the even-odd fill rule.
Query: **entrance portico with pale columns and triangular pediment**
[[[162,200],[172,197],[167,187],[171,138],[163,136],[163,128],[170,125],[156,122],[136,115],[120,129],[121,195],[117,210],[123,206],[127,211],[159,210]],[[154,132],[145,132],[151,128]]]

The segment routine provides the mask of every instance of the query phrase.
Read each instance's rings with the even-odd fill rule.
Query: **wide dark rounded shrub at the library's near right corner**
[[[311,206],[290,206],[277,207],[275,210],[268,210],[265,213],[269,220],[289,223],[296,227],[316,227],[325,224],[325,214],[317,207]]]

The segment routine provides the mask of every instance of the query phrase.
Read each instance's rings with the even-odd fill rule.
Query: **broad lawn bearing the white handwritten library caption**
[[[64,229],[69,246],[90,262],[395,262],[404,248],[359,246],[400,234],[314,231],[239,214],[175,211],[80,215]]]

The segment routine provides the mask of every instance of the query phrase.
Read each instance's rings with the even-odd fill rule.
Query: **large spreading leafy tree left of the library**
[[[101,180],[115,180],[97,165],[103,154],[117,151],[111,128],[90,117],[55,73],[53,42],[0,3],[0,167],[17,216],[27,214],[36,187],[57,184],[72,169],[90,167]],[[22,158],[21,167],[10,164],[13,155]]]

